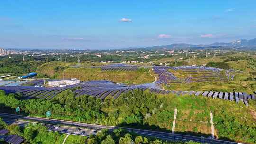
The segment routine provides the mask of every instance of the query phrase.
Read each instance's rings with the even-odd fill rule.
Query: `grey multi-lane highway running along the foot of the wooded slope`
[[[173,134],[167,132],[160,132],[160,131],[152,131],[152,130],[142,130],[142,129],[135,129],[135,128],[126,128],[126,127],[118,127],[118,126],[103,126],[103,125],[94,125],[94,124],[87,124],[87,123],[80,123],[80,122],[73,122],[73,121],[66,121],[66,120],[58,120],[58,119],[51,119],[51,118],[42,118],[42,117],[28,117],[28,116],[21,116],[21,115],[14,115],[14,114],[7,114],[7,113],[0,113],[0,117],[3,117],[3,120],[7,123],[15,122],[18,120],[19,125],[25,125],[29,122],[37,122],[46,124],[49,130],[58,131],[67,134],[74,134],[74,135],[83,135],[88,136],[90,134],[95,134],[97,131],[101,131],[101,129],[118,129],[122,128],[127,130],[128,132],[137,133],[138,135],[143,136],[150,136],[155,137],[158,139],[168,140],[168,141],[195,141],[195,142],[203,142],[208,144],[242,144],[236,142],[229,142],[229,141],[221,141],[221,140],[214,140],[204,138],[202,141],[201,137],[191,136],[191,135],[180,135],[180,134]],[[54,126],[60,126],[59,128],[54,128]],[[78,133],[75,129],[81,128],[85,134]]]

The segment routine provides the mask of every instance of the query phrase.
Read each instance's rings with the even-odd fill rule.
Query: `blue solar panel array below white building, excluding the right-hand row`
[[[75,85],[66,86],[63,88],[59,87],[33,87],[33,86],[9,86],[0,87],[0,90],[4,90],[7,94],[9,93],[20,93],[23,95],[24,99],[52,99],[57,94],[64,90],[71,88],[76,88],[74,93],[77,96],[80,95],[90,95],[99,99],[105,99],[107,96],[113,96],[118,98],[123,93],[128,93],[132,90],[147,90],[149,88],[157,88],[155,84],[140,84],[140,85],[125,85],[118,84],[111,81],[99,80],[99,81],[87,81]]]

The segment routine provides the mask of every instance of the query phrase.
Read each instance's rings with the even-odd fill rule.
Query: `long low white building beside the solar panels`
[[[71,79],[71,80],[57,80],[57,81],[49,81],[48,85],[52,87],[65,87],[67,85],[73,85],[80,83],[78,79]]]

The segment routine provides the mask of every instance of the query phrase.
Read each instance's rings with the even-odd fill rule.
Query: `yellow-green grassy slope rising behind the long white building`
[[[41,65],[37,72],[46,74],[53,79],[62,79],[63,70],[66,79],[78,78],[81,81],[110,80],[119,83],[141,84],[153,82],[155,78],[145,71],[101,71],[100,69],[86,68],[90,65],[105,65],[106,63],[82,63],[81,68],[70,68],[76,63],[49,62]],[[110,63],[107,63],[110,64]]]

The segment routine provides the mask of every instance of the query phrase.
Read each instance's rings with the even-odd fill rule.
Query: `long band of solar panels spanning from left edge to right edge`
[[[235,102],[244,102],[248,106],[248,101],[256,99],[255,94],[247,94],[246,92],[217,92],[217,91],[174,91],[174,90],[163,90],[160,89],[154,83],[140,84],[140,85],[126,85],[118,84],[112,81],[99,80],[99,81],[87,81],[67,87],[33,87],[33,86],[4,86],[0,87],[0,90],[4,90],[7,94],[9,93],[20,93],[24,96],[24,99],[52,99],[57,94],[64,90],[75,88],[74,93],[76,96],[90,95],[99,99],[105,99],[107,96],[118,98],[123,93],[128,93],[132,90],[147,90],[156,94],[175,94],[175,95],[202,95],[204,97],[219,98]],[[256,92],[255,92],[256,93]]]

